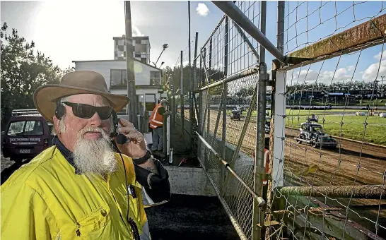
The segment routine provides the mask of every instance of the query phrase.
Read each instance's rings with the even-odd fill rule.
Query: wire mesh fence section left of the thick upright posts
[[[236,4],[259,25],[259,3]],[[242,239],[252,237],[253,199],[256,197],[250,189],[254,188],[257,52],[257,42],[223,16],[200,49],[201,67],[197,76],[201,88],[201,135],[229,163],[234,174],[228,172],[214,152],[203,144],[201,162],[211,177],[218,179],[215,188],[221,193],[219,197],[230,211]]]

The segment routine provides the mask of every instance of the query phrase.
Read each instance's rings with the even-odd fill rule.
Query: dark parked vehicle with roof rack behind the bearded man
[[[4,157],[21,162],[32,159],[52,145],[52,124],[33,110],[13,111],[1,146]]]

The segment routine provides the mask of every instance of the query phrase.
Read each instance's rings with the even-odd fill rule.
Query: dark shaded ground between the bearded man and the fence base
[[[172,195],[170,202],[146,208],[151,239],[239,239],[216,197]]]

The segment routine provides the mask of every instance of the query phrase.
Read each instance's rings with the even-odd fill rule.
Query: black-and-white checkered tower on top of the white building
[[[114,59],[126,60],[126,40],[122,37],[113,37]],[[133,57],[144,64],[150,64],[150,41],[148,37],[133,37]]]

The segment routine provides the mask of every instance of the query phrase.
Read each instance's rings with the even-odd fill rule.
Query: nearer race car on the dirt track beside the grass
[[[308,121],[300,124],[300,133],[296,137],[298,143],[310,143],[313,148],[337,148],[337,140],[326,133],[320,124]]]

